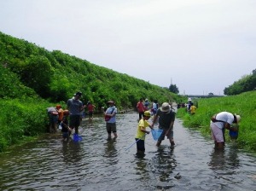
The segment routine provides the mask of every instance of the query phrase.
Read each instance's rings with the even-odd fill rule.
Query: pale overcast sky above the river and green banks
[[[256,67],[255,0],[1,0],[0,31],[180,94]]]

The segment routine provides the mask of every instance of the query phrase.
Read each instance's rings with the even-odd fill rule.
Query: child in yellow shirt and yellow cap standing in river
[[[145,136],[149,134],[150,131],[146,130],[146,127],[151,127],[151,124],[148,123],[148,119],[150,118],[151,113],[146,111],[143,113],[143,119],[139,120],[137,125],[137,134],[135,136],[135,140],[137,141],[137,154],[145,153]]]

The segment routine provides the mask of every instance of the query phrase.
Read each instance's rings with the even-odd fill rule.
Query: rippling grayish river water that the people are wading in
[[[256,190],[256,157],[229,144],[224,152],[176,119],[174,138],[156,148],[146,136],[136,156],[137,113],[119,114],[119,137],[107,141],[105,122],[83,121],[82,142],[46,135],[0,155],[1,190]],[[126,148],[129,148],[125,151]]]

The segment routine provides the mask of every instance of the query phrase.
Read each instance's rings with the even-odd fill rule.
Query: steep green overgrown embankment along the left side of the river
[[[154,84],[114,72],[62,53],[40,48],[0,32],[0,152],[46,132],[47,107],[61,104],[77,91],[96,109],[109,100],[119,110],[136,106],[139,98],[159,102],[182,100]]]

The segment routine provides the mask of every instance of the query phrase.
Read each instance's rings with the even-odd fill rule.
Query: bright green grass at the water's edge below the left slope
[[[0,153],[13,145],[27,142],[46,132],[49,102],[26,100],[0,100]]]

